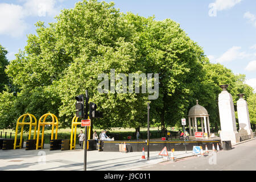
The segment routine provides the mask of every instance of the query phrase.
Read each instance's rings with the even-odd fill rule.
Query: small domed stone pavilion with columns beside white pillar
[[[207,136],[210,136],[209,114],[203,106],[200,106],[198,104],[198,100],[196,100],[196,105],[191,107],[188,112],[189,134],[191,136],[195,136],[195,131],[197,132],[197,118],[201,118],[202,132],[207,133]],[[191,133],[191,119],[193,126],[193,135]]]

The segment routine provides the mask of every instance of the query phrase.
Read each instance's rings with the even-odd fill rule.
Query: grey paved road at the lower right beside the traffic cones
[[[131,171],[236,171],[256,170],[256,140],[238,144],[229,151],[210,152],[203,158],[192,156],[175,163],[163,162],[151,166],[134,168]]]

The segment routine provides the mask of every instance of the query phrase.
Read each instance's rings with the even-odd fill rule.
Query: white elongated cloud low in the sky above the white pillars
[[[246,52],[241,52],[241,47],[233,46],[228,49],[224,54],[222,54],[216,61],[218,63],[229,62],[236,59],[243,59],[245,57],[249,57],[250,55]]]

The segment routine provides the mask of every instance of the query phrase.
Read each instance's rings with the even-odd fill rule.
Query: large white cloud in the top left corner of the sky
[[[25,16],[22,6],[0,3],[0,34],[21,36],[27,28]]]

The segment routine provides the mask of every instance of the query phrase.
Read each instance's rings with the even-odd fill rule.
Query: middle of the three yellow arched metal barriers
[[[46,118],[48,116],[52,117],[52,122],[46,122]],[[41,122],[43,119],[43,122]],[[56,120],[56,122],[55,122]],[[38,150],[38,148],[43,148],[43,142],[44,142],[44,127],[46,125],[52,125],[52,133],[51,133],[51,140],[53,139],[53,135],[54,135],[54,127],[56,126],[56,131],[55,131],[55,139],[57,139],[57,131],[58,131],[58,125],[59,125],[59,121],[58,118],[56,117],[56,115],[51,114],[51,113],[47,113],[42,115],[42,117],[40,117],[39,121],[38,121],[38,136],[36,139],[36,150]],[[42,129],[42,139],[41,139],[41,144],[39,146],[39,134],[40,134],[40,126],[43,127]]]

